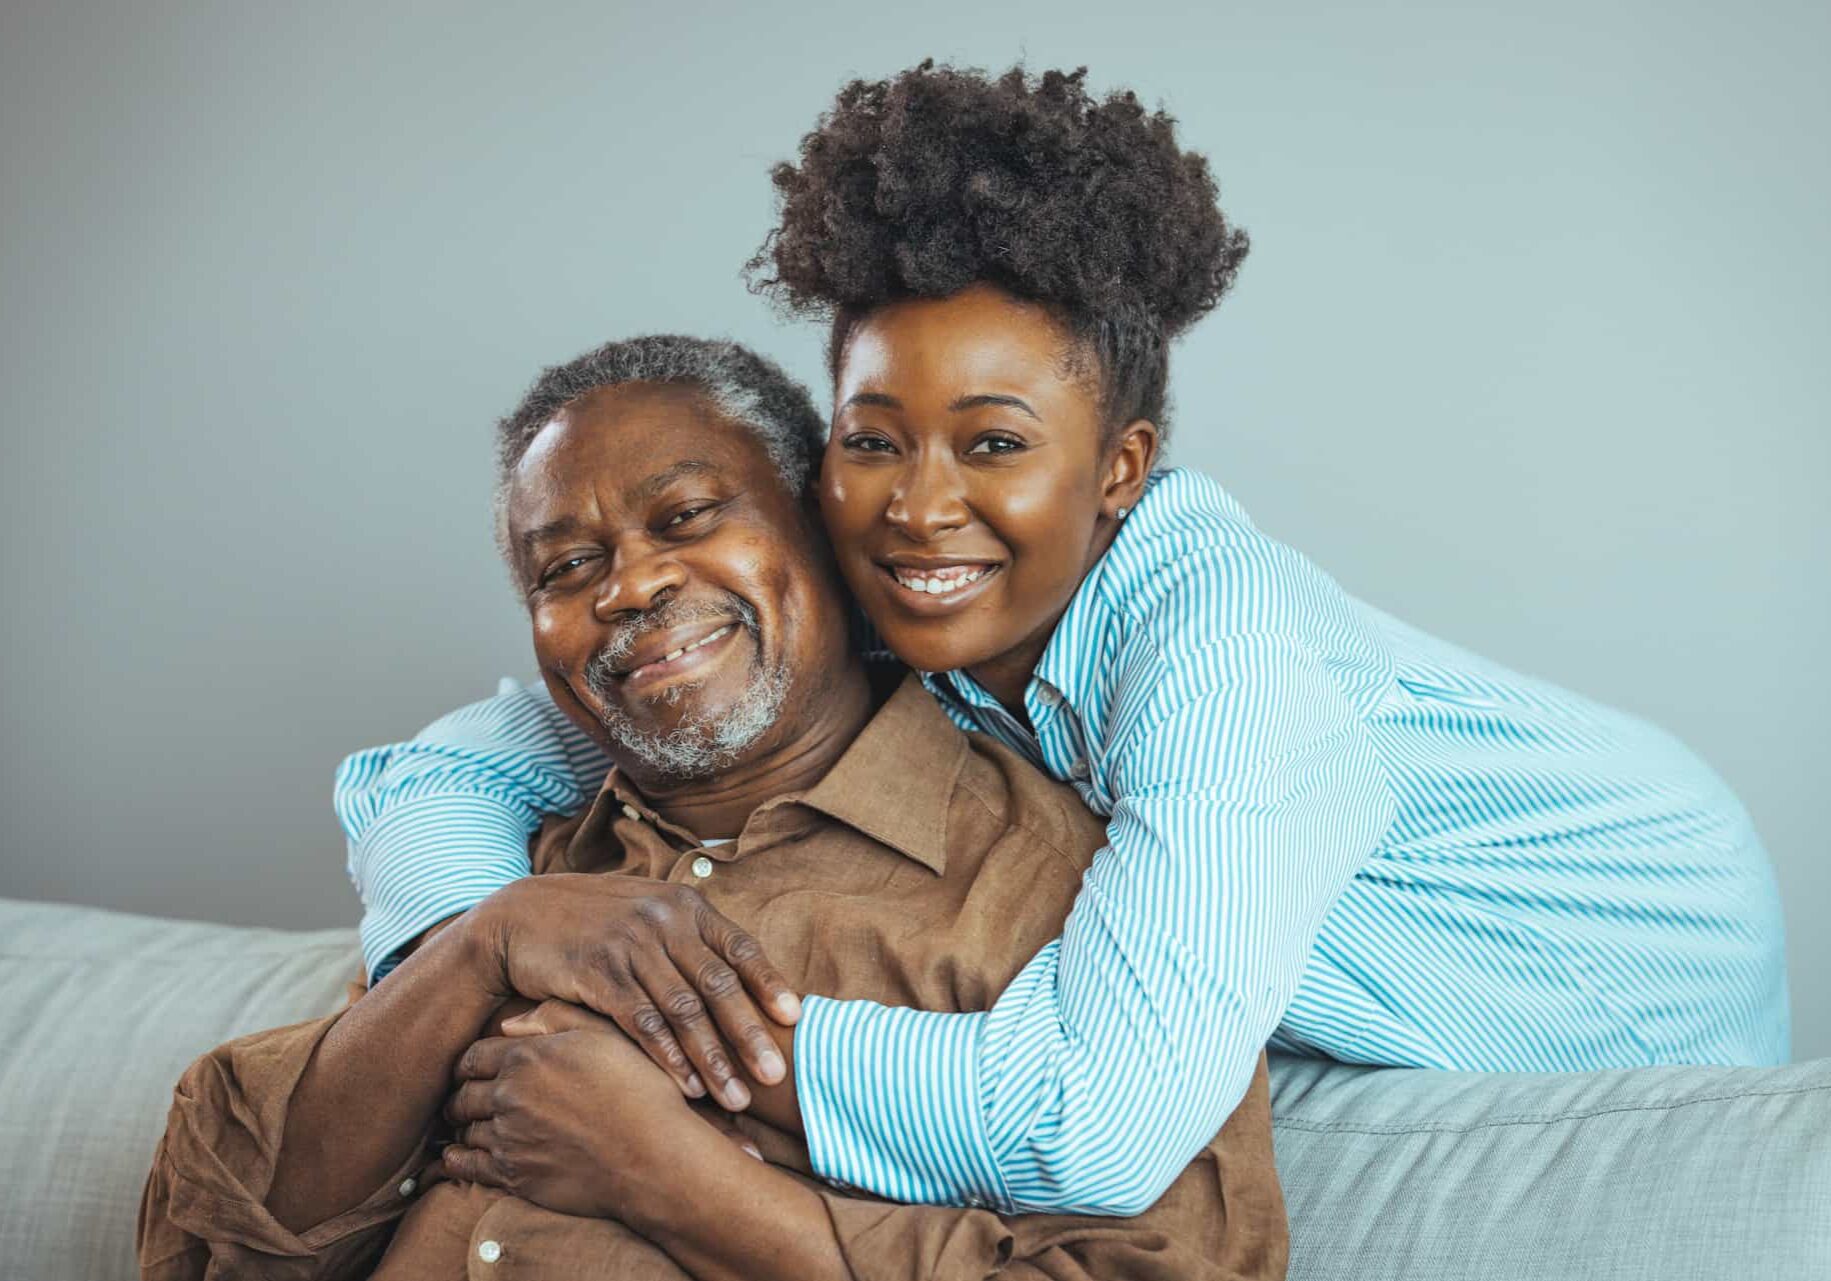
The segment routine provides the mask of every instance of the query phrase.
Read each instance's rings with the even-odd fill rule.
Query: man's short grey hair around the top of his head
[[[606,342],[544,370],[515,412],[496,425],[496,547],[511,569],[509,481],[516,465],[555,414],[588,392],[621,382],[698,388],[714,410],[756,432],[782,483],[796,496],[806,489],[813,459],[826,441],[826,425],[807,388],[745,346],[681,333]]]

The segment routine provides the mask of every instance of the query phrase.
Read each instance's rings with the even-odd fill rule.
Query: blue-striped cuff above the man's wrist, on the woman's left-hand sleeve
[[[527,833],[524,811],[487,796],[427,796],[390,809],[350,858],[370,983],[427,928],[525,877]]]

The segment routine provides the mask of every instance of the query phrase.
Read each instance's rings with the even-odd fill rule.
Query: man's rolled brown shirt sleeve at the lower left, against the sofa
[[[368,1276],[410,1204],[403,1180],[430,1158],[430,1133],[381,1188],[335,1219],[295,1233],[265,1208],[293,1089],[339,1017],[229,1041],[179,1078],[139,1202],[145,1281]]]

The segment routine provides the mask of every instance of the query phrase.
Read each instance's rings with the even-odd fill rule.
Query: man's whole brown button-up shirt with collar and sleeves
[[[802,992],[983,1010],[1062,931],[1102,844],[1073,791],[959,732],[908,677],[818,785],[758,807],[734,842],[703,845],[613,770],[584,813],[542,827],[533,866],[688,882]],[[683,1281],[619,1222],[425,1186],[430,1135],[361,1206],[282,1228],[262,1197],[287,1098],[335,1017],[231,1041],[179,1082],[141,1206],[143,1276]],[[811,1173],[798,1138],[742,1124],[771,1162]],[[901,1206],[811,1182],[861,1281],[1258,1281],[1285,1266],[1263,1058],[1221,1133],[1132,1219]]]

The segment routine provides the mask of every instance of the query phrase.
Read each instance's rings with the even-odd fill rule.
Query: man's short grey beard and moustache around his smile
[[[758,648],[758,664],[751,672],[751,679],[745,683],[743,694],[740,694],[731,706],[721,708],[716,714],[687,717],[668,734],[652,734],[635,727],[606,697],[606,659],[628,653],[635,637],[643,631],[650,631],[654,626],[690,622],[692,615],[698,613],[701,611],[694,609],[687,617],[681,617],[681,613],[676,611],[674,617],[657,619],[652,626],[628,633],[623,644],[613,642],[606,646],[606,651],[586,668],[586,684],[599,695],[599,706],[602,706],[599,721],[602,721],[604,732],[610,736],[617,752],[626,752],[650,770],[666,778],[709,778],[720,770],[731,769],[745,748],[756,743],[756,739],[760,739],[769,727],[776,723],[776,717],[782,714],[782,703],[787,699],[789,692],[787,666],[776,664],[769,668],[762,664],[762,640],[758,637],[756,613],[747,604],[738,602],[736,622],[743,630],[749,642]],[[729,619],[729,615],[725,617]],[[679,684],[670,684],[661,697],[672,706],[698,688],[701,688],[699,681],[683,681]]]

